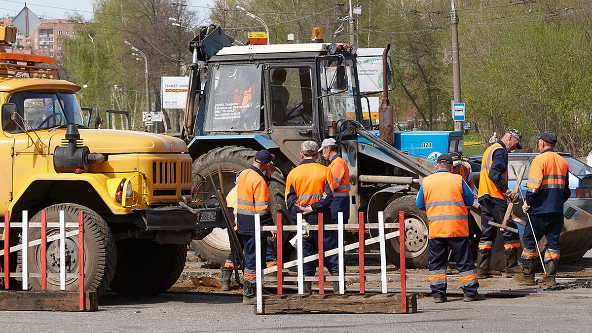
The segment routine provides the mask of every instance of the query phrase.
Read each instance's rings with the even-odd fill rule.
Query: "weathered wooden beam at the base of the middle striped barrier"
[[[407,295],[407,312],[417,312],[417,297]],[[258,313],[255,309],[255,313]],[[258,314],[294,313],[403,313],[401,294],[287,294],[263,295]]]

